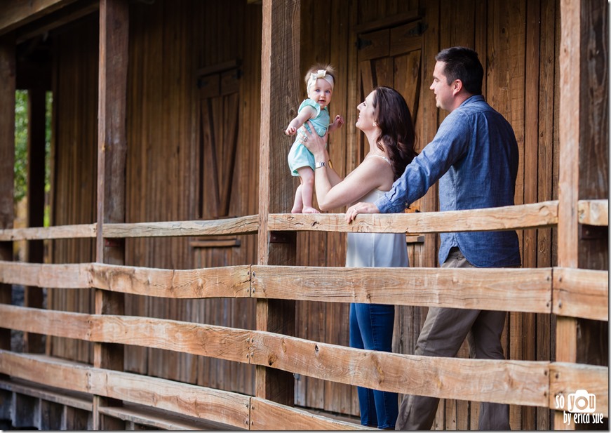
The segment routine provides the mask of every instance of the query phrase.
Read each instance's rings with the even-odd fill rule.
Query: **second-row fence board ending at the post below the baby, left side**
[[[165,298],[248,298],[250,266],[207,269],[152,269],[91,265],[91,286]]]

